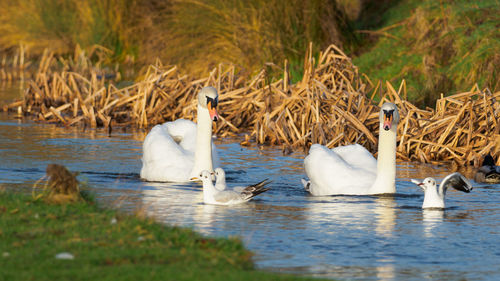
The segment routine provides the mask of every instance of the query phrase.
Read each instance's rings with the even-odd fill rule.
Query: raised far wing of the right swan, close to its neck
[[[377,159],[362,145],[351,144],[332,148],[349,165],[377,173]]]

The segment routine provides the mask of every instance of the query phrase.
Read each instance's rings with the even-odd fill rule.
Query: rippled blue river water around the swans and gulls
[[[2,93],[3,91],[3,93]],[[0,97],[18,95],[0,89]],[[31,190],[49,163],[80,173],[101,204],[143,210],[211,236],[238,236],[264,270],[340,280],[500,280],[500,185],[450,190],[444,211],[423,211],[411,178],[447,167],[398,163],[394,196],[309,196],[304,153],[216,139],[230,186],[272,180],[238,206],[204,205],[196,183],[139,179],[144,132],[62,128],[0,114],[0,186]]]

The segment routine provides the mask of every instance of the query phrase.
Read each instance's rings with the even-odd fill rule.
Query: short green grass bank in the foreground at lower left
[[[0,192],[0,280],[307,280],[257,271],[251,257],[236,238]]]

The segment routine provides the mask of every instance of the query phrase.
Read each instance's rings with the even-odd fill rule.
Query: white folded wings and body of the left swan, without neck
[[[177,143],[182,143],[185,139],[193,139],[196,136],[196,125],[193,122],[167,122],[156,125],[151,129],[143,143],[143,157],[141,178],[149,181],[178,181],[189,180],[189,173],[193,168],[194,150],[190,150],[190,144],[185,143],[183,147]],[[191,124],[189,124],[190,122]],[[185,135],[171,135],[171,123],[184,124],[184,130],[174,130],[175,133]],[[194,126],[193,126],[194,125]],[[194,128],[194,137],[192,136]],[[186,137],[186,134],[188,137]],[[196,140],[195,140],[196,141]]]

